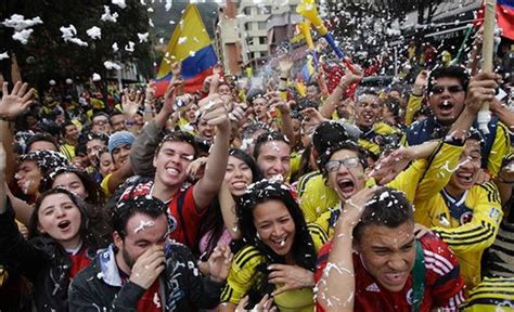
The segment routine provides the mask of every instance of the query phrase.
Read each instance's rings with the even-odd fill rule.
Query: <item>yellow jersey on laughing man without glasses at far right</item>
[[[503,212],[493,183],[475,185],[461,198],[441,191],[415,203],[415,220],[437,233],[459,258],[461,273],[472,288],[480,282],[481,253],[492,245]]]

